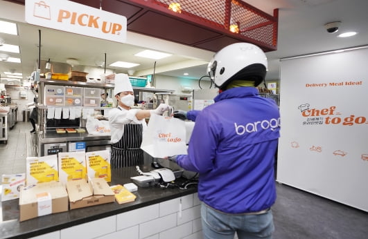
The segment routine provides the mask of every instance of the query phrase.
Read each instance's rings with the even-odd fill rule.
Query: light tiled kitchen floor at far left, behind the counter
[[[7,173],[26,173],[26,157],[33,156],[30,122],[17,122],[10,129],[8,143],[0,141],[0,175]]]

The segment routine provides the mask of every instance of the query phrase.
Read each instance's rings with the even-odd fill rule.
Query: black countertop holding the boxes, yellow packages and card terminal
[[[143,172],[151,171],[150,166],[141,166]],[[125,184],[131,182],[130,177],[139,175],[134,167],[112,170],[112,182],[109,185]],[[177,182],[184,182],[185,179],[179,178]],[[197,192],[195,187],[189,189],[159,187],[138,188],[134,194],[137,199],[134,202],[118,204],[117,202],[100,204],[94,207],[73,209],[63,213],[41,216],[19,222],[19,200],[9,200],[1,203],[0,213],[0,238],[30,238],[52,231],[73,227],[78,224],[114,216],[126,211],[132,211],[141,207],[172,200],[184,195]]]

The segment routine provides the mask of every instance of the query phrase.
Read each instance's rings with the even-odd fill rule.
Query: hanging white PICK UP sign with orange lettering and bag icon
[[[127,19],[67,0],[26,0],[26,22],[124,43]]]

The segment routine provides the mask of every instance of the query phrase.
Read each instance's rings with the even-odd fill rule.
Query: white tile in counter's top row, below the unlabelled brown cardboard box
[[[116,231],[116,216],[111,216],[62,229],[60,238],[96,238],[114,231]]]

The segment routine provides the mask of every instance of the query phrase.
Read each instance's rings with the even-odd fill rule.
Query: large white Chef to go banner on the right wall
[[[277,181],[368,211],[368,48],[281,61]]]

